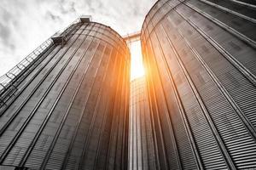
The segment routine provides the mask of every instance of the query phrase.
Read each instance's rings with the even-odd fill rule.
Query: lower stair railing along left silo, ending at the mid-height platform
[[[42,54],[46,48],[49,48],[53,42],[49,38],[43,42],[38,48],[28,54],[25,59],[22,59],[18,65],[15,65],[10,71],[0,77],[0,93],[10,85],[10,82],[17,77],[21,71],[25,70],[28,65],[30,65],[35,59],[37,59],[39,54]]]

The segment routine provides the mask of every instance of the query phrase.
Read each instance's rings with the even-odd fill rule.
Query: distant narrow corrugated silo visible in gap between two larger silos
[[[145,77],[131,81],[130,93],[128,169],[155,169],[154,133]]]

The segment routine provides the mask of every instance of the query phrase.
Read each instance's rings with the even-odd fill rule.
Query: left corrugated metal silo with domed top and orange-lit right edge
[[[125,169],[130,53],[110,27],[79,22],[14,82],[0,117],[0,165]]]

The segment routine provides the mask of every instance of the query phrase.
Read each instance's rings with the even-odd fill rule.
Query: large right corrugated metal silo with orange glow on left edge
[[[256,169],[256,8],[160,0],[143,23],[159,169]]]

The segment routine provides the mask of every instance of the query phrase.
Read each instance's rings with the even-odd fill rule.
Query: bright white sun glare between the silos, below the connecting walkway
[[[131,81],[137,77],[144,76],[144,67],[143,67],[143,56],[141,42],[131,42],[129,44],[131,51]]]

